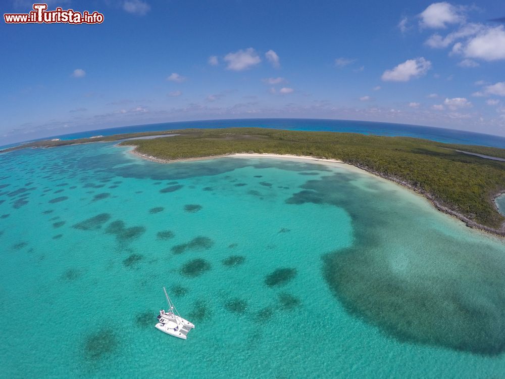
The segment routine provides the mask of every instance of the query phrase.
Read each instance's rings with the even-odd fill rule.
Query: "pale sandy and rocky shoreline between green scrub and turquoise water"
[[[119,145],[116,145],[119,146]],[[218,158],[226,158],[226,157],[248,157],[248,158],[279,158],[279,159],[305,159],[305,160],[311,160],[311,161],[318,161],[318,162],[323,162],[323,163],[340,163],[340,164],[346,164],[355,168],[358,168],[360,170],[366,171],[374,176],[378,176],[380,178],[383,178],[388,181],[392,181],[396,184],[399,184],[403,187],[406,187],[413,191],[414,193],[423,196],[425,199],[428,200],[428,202],[438,211],[445,213],[453,218],[456,218],[460,221],[463,221],[466,226],[472,228],[472,229],[477,229],[495,236],[498,236],[500,238],[505,238],[505,225],[501,227],[501,229],[496,229],[492,228],[486,225],[481,225],[465,215],[447,208],[443,204],[441,204],[432,194],[424,191],[423,189],[417,188],[413,186],[412,184],[406,182],[405,180],[401,180],[397,177],[393,177],[390,175],[383,174],[381,172],[369,169],[366,166],[362,165],[355,165],[351,164],[349,162],[337,160],[337,159],[327,159],[327,158],[317,158],[317,157],[312,157],[312,156],[300,156],[300,155],[289,155],[289,154],[272,154],[272,153],[230,153],[230,154],[222,154],[222,155],[211,155],[208,157],[196,157],[196,158],[181,158],[181,159],[161,159],[161,158],[156,158],[154,156],[148,156],[146,154],[142,154],[136,151],[136,147],[134,147],[132,150],[129,150],[128,153],[133,154],[134,156],[145,159],[151,162],[157,162],[157,163],[175,163],[175,162],[192,162],[192,161],[203,161],[203,160],[210,160],[210,159],[218,159]],[[495,207],[497,207],[496,202],[494,201],[497,197],[500,195],[504,194],[505,191],[501,191],[498,194],[494,195],[491,197],[490,201],[494,204]]]

